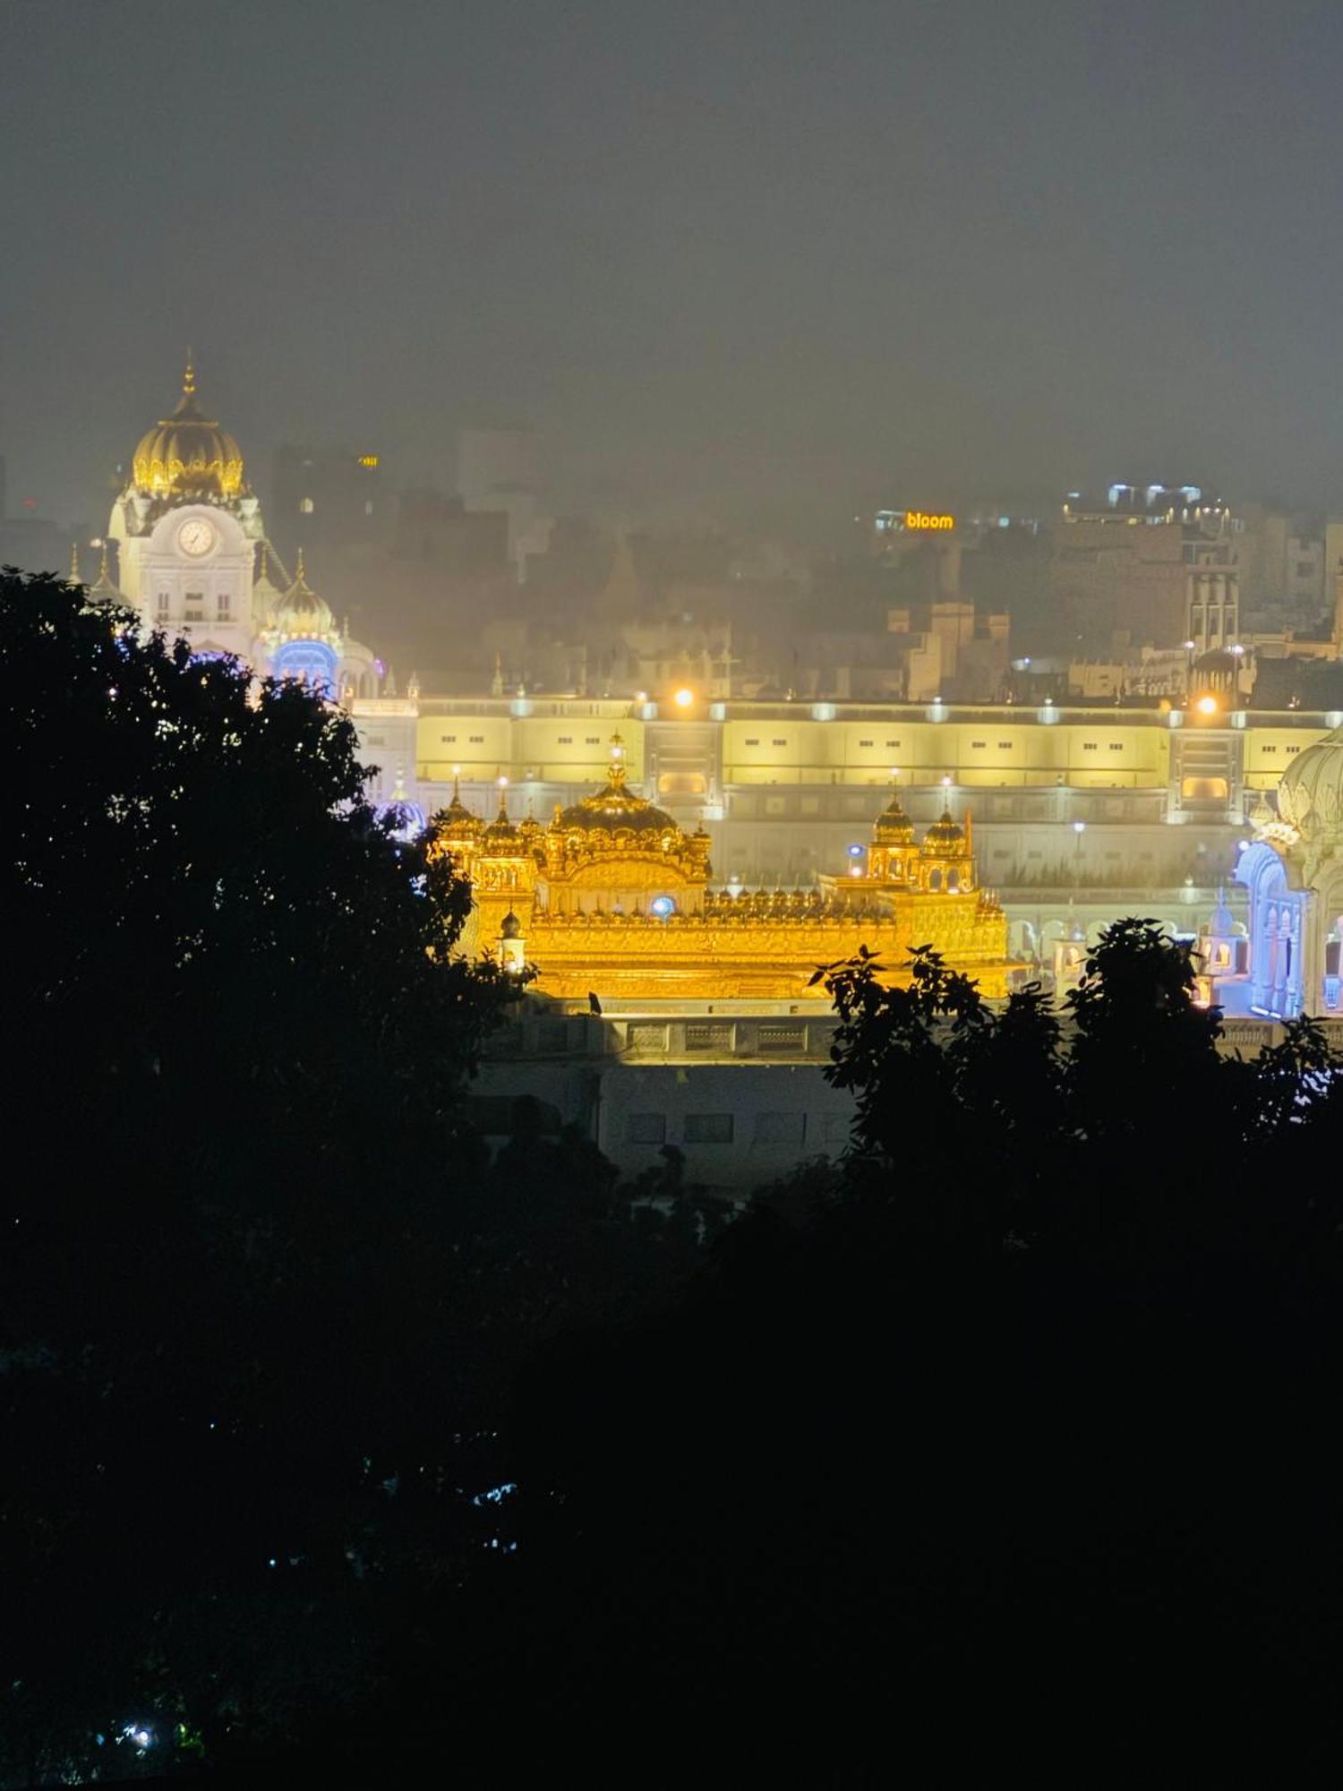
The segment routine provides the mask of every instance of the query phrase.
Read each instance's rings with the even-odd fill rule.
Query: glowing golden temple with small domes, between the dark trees
[[[915,840],[892,795],[863,861],[813,892],[709,888],[709,836],[688,833],[627,783],[614,736],[605,786],[548,826],[492,822],[453,801],[433,820],[473,887],[471,953],[535,971],[559,999],[829,1001],[813,974],[874,951],[902,981],[913,946],[931,944],[988,998],[1008,989],[1006,919],[978,887],[971,838],[944,813]]]

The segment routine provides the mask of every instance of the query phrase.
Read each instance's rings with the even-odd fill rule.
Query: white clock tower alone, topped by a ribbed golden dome
[[[197,403],[190,358],[177,408],[140,439],[107,534],[118,543],[116,582],[147,629],[251,657],[265,621],[252,614],[265,525],[242,450]]]

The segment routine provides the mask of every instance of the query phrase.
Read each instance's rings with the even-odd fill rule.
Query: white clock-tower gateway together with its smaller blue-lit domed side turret
[[[242,450],[201,410],[190,358],[177,408],[140,439],[107,536],[118,548],[116,586],[104,571],[95,589],[136,609],[145,629],[331,697],[378,695],[381,666],[310,589],[303,555],[290,578],[270,548]]]

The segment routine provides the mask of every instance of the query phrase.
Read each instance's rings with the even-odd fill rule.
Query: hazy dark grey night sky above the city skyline
[[[1343,9],[7,0],[0,453],[202,396],[808,527],[1112,476],[1343,509]]]

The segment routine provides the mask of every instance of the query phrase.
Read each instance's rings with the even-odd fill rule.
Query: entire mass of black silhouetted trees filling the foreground
[[[854,1150],[723,1230],[485,1161],[462,892],[301,691],[9,578],[0,743],[0,1782],[1330,1755],[1318,1030],[1142,922],[1062,1026],[836,967]]]

